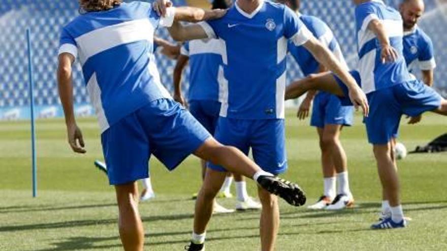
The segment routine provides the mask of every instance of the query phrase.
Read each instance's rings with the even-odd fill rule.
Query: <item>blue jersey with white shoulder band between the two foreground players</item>
[[[218,39],[192,40],[183,44],[180,54],[189,57],[188,100],[220,101],[223,77],[223,44]]]

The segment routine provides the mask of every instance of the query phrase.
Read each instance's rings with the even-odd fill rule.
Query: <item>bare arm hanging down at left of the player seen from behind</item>
[[[57,67],[57,87],[60,102],[62,103],[65,123],[67,125],[68,142],[76,153],[85,153],[84,139],[82,132],[76,124],[73,111],[73,84],[72,84],[72,64],[75,58],[70,53],[59,55]]]

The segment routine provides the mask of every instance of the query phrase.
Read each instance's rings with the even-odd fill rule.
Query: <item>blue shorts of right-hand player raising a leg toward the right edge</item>
[[[379,89],[366,96],[369,116],[364,121],[368,140],[374,145],[387,144],[397,136],[403,114],[414,117],[433,111],[442,100],[435,90],[419,80]]]

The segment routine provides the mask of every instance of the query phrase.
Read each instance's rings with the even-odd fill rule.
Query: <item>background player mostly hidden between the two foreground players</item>
[[[227,9],[231,3],[226,0],[214,0],[212,9]],[[186,106],[181,90],[181,75],[189,61],[189,112],[208,130],[214,134],[220,112],[219,90],[223,85],[223,65],[221,49],[223,45],[217,39],[193,40],[183,44],[180,56],[174,68],[174,100]],[[205,177],[206,162],[201,160],[202,179]],[[229,173],[222,185],[221,197],[232,197],[230,185],[233,175]],[[261,209],[261,203],[248,196],[246,183],[242,175],[235,173],[236,209]],[[197,195],[196,195],[197,197]],[[214,205],[214,212],[233,212],[219,204]]]

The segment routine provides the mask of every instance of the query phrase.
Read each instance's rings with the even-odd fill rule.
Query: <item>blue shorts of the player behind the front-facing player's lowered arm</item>
[[[324,128],[325,125],[353,124],[353,106],[341,105],[340,99],[328,92],[320,91],[313,99],[310,125]]]

